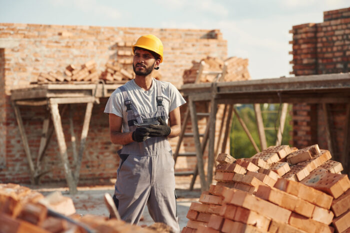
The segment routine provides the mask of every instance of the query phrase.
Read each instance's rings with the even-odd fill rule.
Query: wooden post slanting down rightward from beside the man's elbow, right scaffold
[[[188,97],[188,108],[189,108],[189,113],[190,113],[191,122],[192,122],[193,139],[194,139],[195,152],[197,157],[198,173],[200,178],[200,189],[204,191],[207,186],[206,186],[206,180],[205,180],[205,174],[204,174],[204,164],[203,164],[203,157],[202,157],[203,154],[202,154],[200,141],[199,141],[197,114],[196,114],[195,105],[191,96]]]

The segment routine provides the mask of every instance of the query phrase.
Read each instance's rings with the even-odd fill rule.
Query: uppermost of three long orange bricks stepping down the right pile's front
[[[327,210],[330,208],[333,200],[331,196],[295,181],[278,179],[274,188]]]

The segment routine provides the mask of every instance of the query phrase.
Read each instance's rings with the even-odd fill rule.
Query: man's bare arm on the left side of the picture
[[[112,113],[109,114],[110,141],[113,144],[126,145],[133,142],[132,132],[121,133],[121,123],[122,123],[121,117],[114,115]]]

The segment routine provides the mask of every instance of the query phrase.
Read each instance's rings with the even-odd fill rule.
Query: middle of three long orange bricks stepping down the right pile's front
[[[297,214],[310,218],[312,216],[314,205],[301,198],[280,191],[276,188],[260,186],[257,189],[256,197],[274,203],[284,209],[293,211]]]

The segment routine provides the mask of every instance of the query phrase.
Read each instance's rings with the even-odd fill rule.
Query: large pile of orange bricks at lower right
[[[217,183],[191,204],[182,233],[349,232],[350,181],[330,158],[318,145],[218,154]]]

